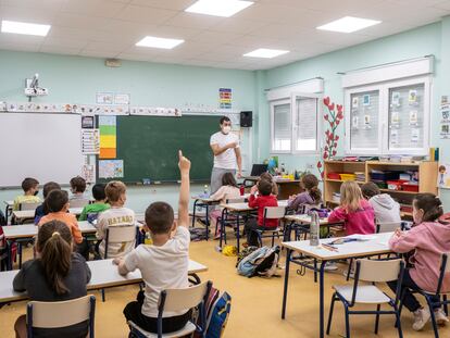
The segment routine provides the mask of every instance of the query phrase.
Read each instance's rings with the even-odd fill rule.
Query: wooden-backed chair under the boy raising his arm
[[[207,313],[205,303],[212,287],[211,281],[185,288],[185,289],[167,289],[161,291],[158,305],[158,334],[148,333],[140,328],[137,324],[128,321],[132,330],[132,337],[137,338],[175,338],[185,337],[197,331],[201,337],[205,337]],[[180,330],[163,334],[162,322],[164,311],[183,311],[186,309],[199,308],[199,324],[188,322]]]

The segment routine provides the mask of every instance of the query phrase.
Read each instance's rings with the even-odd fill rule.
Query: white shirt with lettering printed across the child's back
[[[107,228],[110,226],[126,226],[135,225],[136,217],[135,212],[128,208],[114,208],[108,209],[99,214],[97,220],[97,239],[103,239],[100,243],[100,255],[104,258],[104,247],[107,238]],[[108,258],[113,259],[116,256],[123,256],[135,247],[136,240],[124,241],[122,243],[108,243]]]

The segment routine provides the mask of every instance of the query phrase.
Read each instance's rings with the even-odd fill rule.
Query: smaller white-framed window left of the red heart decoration
[[[292,93],[271,102],[272,153],[316,153],[320,96]]]

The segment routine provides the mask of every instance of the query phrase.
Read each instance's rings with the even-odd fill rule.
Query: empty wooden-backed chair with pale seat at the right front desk
[[[399,337],[403,337],[400,323],[400,298],[401,281],[403,279],[404,263],[402,260],[358,260],[357,271],[354,274],[353,285],[333,286],[335,290],[332,297],[332,305],[329,308],[328,325],[326,334],[329,335],[332,328],[333,311],[335,301],[340,300],[346,312],[346,337],[350,338],[350,321],[351,314],[375,314],[375,335],[378,334],[379,315],[393,314],[396,316],[397,329]],[[386,283],[398,280],[396,297],[392,299],[375,286],[375,283]],[[360,281],[371,283],[361,285]],[[376,310],[352,310],[357,304],[376,304]],[[388,304],[392,310],[382,310],[382,304]]]

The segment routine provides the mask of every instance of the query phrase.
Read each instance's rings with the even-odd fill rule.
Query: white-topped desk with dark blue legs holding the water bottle
[[[388,247],[389,238],[393,233],[386,234],[375,234],[366,235],[366,238],[371,238],[366,241],[352,241],[343,245],[335,245],[338,248],[338,251],[329,251],[324,247],[311,247],[309,240],[300,241],[288,241],[283,242],[282,246],[287,249],[286,253],[286,270],[285,270],[285,283],[284,283],[284,292],[283,292],[283,305],[282,305],[282,318],[286,317],[286,303],[287,303],[287,291],[289,283],[289,264],[290,262],[302,265],[304,267],[311,268],[314,272],[318,272],[318,303],[320,303],[320,314],[318,314],[318,328],[320,337],[324,337],[324,267],[325,263],[328,261],[336,261],[340,259],[357,259],[364,258],[377,254],[390,253]],[[335,238],[321,239],[321,243],[329,243]],[[321,266],[317,268],[316,264],[314,266],[305,265],[300,261],[299,258],[292,258],[292,252],[302,253],[305,256],[313,258],[321,262]]]

